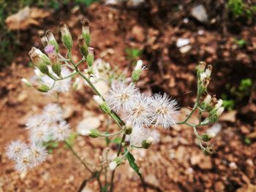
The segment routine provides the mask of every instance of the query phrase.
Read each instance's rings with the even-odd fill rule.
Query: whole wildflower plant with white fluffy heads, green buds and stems
[[[89,180],[95,179],[99,183],[100,191],[113,191],[113,180],[116,168],[129,161],[129,166],[139,175],[144,183],[143,176],[140,174],[138,165],[135,163],[135,157],[132,155],[136,149],[148,149],[154,142],[159,142],[159,131],[157,128],[169,129],[172,126],[185,124],[194,129],[201,150],[206,155],[214,153],[211,145],[207,142],[214,137],[214,134],[197,133],[197,127],[206,126],[217,122],[222,114],[222,100],[217,100],[215,96],[207,93],[207,86],[210,82],[210,65],[200,62],[197,66],[197,100],[187,118],[178,121],[179,107],[175,99],[172,99],[167,93],[156,93],[148,96],[140,93],[136,87],[136,82],[140,79],[140,74],[146,68],[143,61],[138,61],[131,77],[124,78],[121,75],[115,76],[111,73],[109,64],[102,63],[100,60],[94,62],[94,49],[90,47],[91,35],[89,30],[89,21],[81,20],[83,30],[78,37],[78,48],[83,58],[75,63],[72,58],[72,48],[74,47],[73,38],[66,24],[61,23],[61,41],[67,50],[66,56],[60,53],[60,48],[55,37],[50,31],[41,34],[42,45],[45,46],[41,51],[32,47],[29,52],[31,61],[35,66],[35,77],[31,81],[22,79],[25,85],[33,87],[44,93],[46,96],[69,91],[71,88],[77,88],[80,76],[85,80],[86,85],[94,91],[93,99],[103,113],[109,116],[120,129],[119,131],[109,133],[101,132],[98,129],[83,131],[83,135],[91,138],[105,137],[107,145],[113,136],[113,142],[118,144],[116,156],[112,159],[101,158],[99,166],[90,166],[88,162],[80,158],[69,142],[72,133],[69,123],[64,119],[64,113],[59,104],[48,104],[39,115],[34,115],[27,120],[26,128],[29,131],[29,143],[20,140],[13,141],[7,146],[7,156],[15,161],[15,169],[18,172],[26,172],[42,164],[47,159],[48,150],[51,142],[64,142],[69,150],[91,173]],[[81,70],[80,66],[86,69]],[[83,67],[84,68],[84,67]],[[97,81],[105,80],[110,83],[110,90],[106,96],[103,96],[101,90],[97,89]],[[108,84],[107,84],[108,85]],[[199,110],[199,123],[189,123],[189,118],[195,110]],[[207,118],[202,118],[202,114],[207,113]],[[205,116],[204,116],[205,117]],[[119,138],[119,139],[118,139]],[[105,151],[105,150],[104,150]],[[102,155],[104,156],[104,154]],[[111,172],[110,178],[107,177]],[[105,175],[105,178],[103,178]],[[103,185],[102,180],[105,180]],[[82,191],[88,179],[84,180],[78,191]]]

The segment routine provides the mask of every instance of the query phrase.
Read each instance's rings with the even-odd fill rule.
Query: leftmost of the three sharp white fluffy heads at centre
[[[107,103],[115,112],[127,112],[132,109],[138,88],[133,83],[112,82],[111,89],[107,96]]]

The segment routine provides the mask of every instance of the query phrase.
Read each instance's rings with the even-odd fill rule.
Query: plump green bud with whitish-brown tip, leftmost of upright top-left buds
[[[42,72],[43,74],[48,73],[48,64],[50,64],[50,59],[47,55],[42,53],[41,50],[36,47],[32,47],[29,51],[29,56],[33,64]]]

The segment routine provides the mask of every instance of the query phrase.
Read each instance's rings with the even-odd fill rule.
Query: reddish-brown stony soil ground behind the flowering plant
[[[75,39],[81,33],[80,18],[89,18],[95,58],[103,58],[127,75],[131,72],[131,64],[126,48],[143,50],[141,58],[148,70],[138,82],[140,90],[165,91],[176,98],[181,106],[181,119],[187,115],[187,107],[192,107],[195,101],[197,62],[206,61],[214,66],[209,93],[217,97],[227,92],[227,83],[238,85],[245,77],[255,82],[256,27],[253,21],[242,25],[239,20],[218,18],[215,24],[203,24],[189,15],[189,9],[194,5],[192,1],[184,1],[183,11],[174,12],[171,7],[178,4],[178,1],[158,4],[148,1],[141,7],[111,7],[98,3],[86,9],[66,10],[64,7],[41,26],[20,31],[20,42],[23,42],[20,53],[9,67],[0,72],[0,191],[78,191],[82,181],[89,177],[89,172],[64,145],[53,150],[44,164],[26,175],[15,172],[4,153],[4,147],[12,139],[26,140],[26,119],[39,113],[48,102],[55,101],[54,96],[43,96],[20,82],[21,77],[29,78],[33,74],[27,53],[31,45],[41,46],[37,37],[39,31],[50,28],[58,34],[59,23],[64,22]],[[210,17],[214,18],[216,12],[224,12],[221,4],[214,4]],[[189,23],[184,23],[184,18],[189,18]],[[233,28],[239,30],[233,31]],[[203,30],[203,34],[198,34],[198,30]],[[59,35],[56,37],[59,39]],[[181,54],[176,47],[180,37],[190,40],[192,50],[189,53]],[[234,37],[245,39],[246,47],[238,48],[233,42]],[[74,49],[73,55],[77,60],[80,58],[78,50]],[[91,96],[89,88],[61,95],[61,104],[73,107],[69,117],[73,131],[84,117],[101,114]],[[253,91],[250,97],[239,101],[236,110],[225,112],[219,121],[222,128],[213,143],[217,153],[212,156],[203,155],[192,128],[159,129],[160,142],[135,154],[147,191],[256,191],[256,104]],[[100,117],[103,128],[106,117]],[[193,117],[192,121],[195,120]],[[207,129],[208,126],[201,127],[200,134]],[[252,142],[246,145],[244,139],[249,135]],[[104,144],[104,139],[79,136],[74,149],[86,160],[99,163]],[[110,149],[111,153],[116,150],[115,145]],[[139,177],[128,164],[118,167],[115,186],[115,191],[143,191]],[[89,182],[86,190],[99,191],[97,181]]]

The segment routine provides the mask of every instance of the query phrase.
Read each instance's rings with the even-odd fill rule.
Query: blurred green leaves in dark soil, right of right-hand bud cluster
[[[238,101],[241,101],[246,96],[250,95],[251,88],[252,88],[252,80],[249,78],[241,80],[238,87],[227,84],[226,89],[229,93],[222,94],[223,106],[227,110],[233,110],[236,107],[236,103]]]

